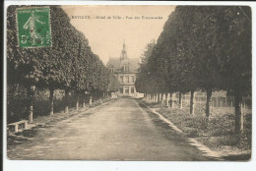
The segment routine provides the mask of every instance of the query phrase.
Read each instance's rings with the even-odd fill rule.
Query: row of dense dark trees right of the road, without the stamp
[[[144,93],[207,92],[206,117],[214,90],[235,98],[235,132],[241,131],[241,100],[251,95],[251,11],[244,6],[178,6],[158,43],[142,57],[136,81]]]

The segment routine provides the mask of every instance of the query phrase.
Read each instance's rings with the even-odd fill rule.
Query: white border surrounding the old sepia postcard
[[[252,9],[252,66],[256,65],[255,57],[255,28],[256,28],[256,2],[224,2],[224,1],[185,1],[185,2],[170,2],[170,1],[12,1],[7,0],[4,2],[4,19],[6,19],[6,11],[9,5],[246,5]],[[4,20],[4,98],[6,99],[6,20]],[[255,97],[255,67],[252,67],[252,96]],[[253,98],[254,99],[254,98]],[[85,170],[190,170],[190,171],[220,171],[220,170],[253,170],[256,168],[255,157],[255,117],[252,117],[253,122],[253,135],[252,135],[252,159],[248,162],[173,162],[173,161],[54,161],[54,160],[9,160],[7,158],[7,140],[6,140],[6,100],[3,100],[4,113],[3,113],[3,167],[8,171],[85,171]],[[255,113],[256,102],[252,100],[252,112]]]

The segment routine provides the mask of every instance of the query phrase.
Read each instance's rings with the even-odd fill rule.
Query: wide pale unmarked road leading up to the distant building
[[[36,129],[11,159],[213,160],[132,98]]]

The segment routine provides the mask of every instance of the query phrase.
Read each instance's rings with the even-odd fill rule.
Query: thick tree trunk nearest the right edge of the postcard
[[[235,108],[235,117],[234,117],[234,127],[235,133],[241,134],[243,132],[243,128],[241,127],[241,102],[242,96],[240,92],[237,90],[234,93],[234,108]]]

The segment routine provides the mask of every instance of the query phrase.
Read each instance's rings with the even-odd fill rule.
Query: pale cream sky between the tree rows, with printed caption
[[[140,58],[146,45],[153,39],[158,40],[163,25],[175,6],[62,6],[62,8],[71,19],[71,24],[88,38],[93,52],[106,64],[109,57],[120,57],[124,41],[128,57]],[[149,19],[149,17],[157,19]]]

